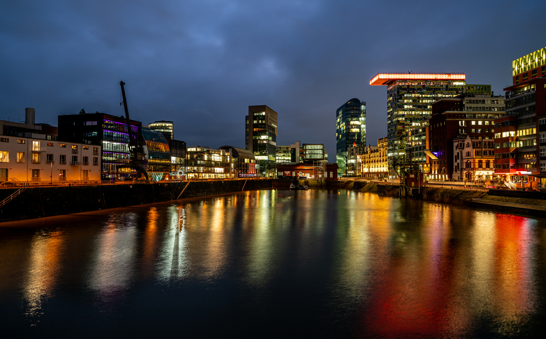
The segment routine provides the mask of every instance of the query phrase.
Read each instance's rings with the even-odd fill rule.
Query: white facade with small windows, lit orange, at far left
[[[0,182],[100,180],[100,146],[1,137]]]

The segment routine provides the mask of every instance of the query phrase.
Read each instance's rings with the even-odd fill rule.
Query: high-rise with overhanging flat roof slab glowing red
[[[387,86],[387,138],[390,177],[406,155],[408,130],[432,115],[432,102],[465,91],[464,73],[378,73],[370,85]]]

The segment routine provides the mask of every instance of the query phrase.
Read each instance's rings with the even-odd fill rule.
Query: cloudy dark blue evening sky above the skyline
[[[0,117],[57,126],[84,108],[173,120],[188,146],[244,147],[248,105],[278,112],[277,145],[324,143],[335,111],[367,103],[368,143],[387,134],[378,72],[464,72],[511,84],[511,62],[546,46],[541,1],[2,1]]]

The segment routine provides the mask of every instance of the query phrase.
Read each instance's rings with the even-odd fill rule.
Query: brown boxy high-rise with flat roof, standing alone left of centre
[[[260,176],[276,176],[277,112],[266,105],[248,106],[246,148],[260,160]]]

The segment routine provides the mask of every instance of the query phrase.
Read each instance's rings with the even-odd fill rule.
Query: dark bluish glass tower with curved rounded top
[[[336,110],[336,162],[347,174],[349,148],[366,146],[366,102],[353,98]]]

